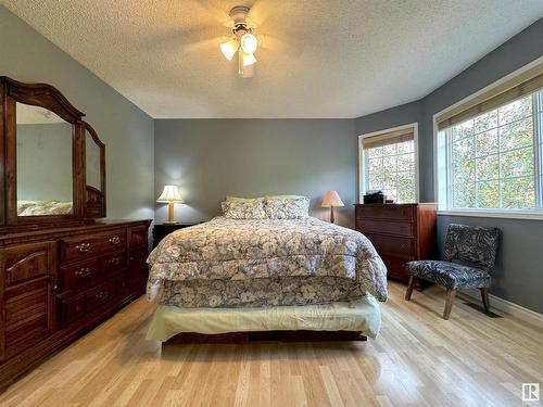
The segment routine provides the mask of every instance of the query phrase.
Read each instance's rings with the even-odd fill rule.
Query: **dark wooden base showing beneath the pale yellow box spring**
[[[171,338],[165,344],[188,343],[243,343],[243,342],[337,342],[367,341],[367,336],[355,331],[251,331],[204,334],[181,332]]]

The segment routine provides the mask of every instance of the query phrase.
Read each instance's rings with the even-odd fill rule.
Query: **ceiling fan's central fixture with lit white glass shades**
[[[236,52],[239,51],[238,73],[242,78],[253,76],[254,69],[245,69],[245,67],[256,63],[254,52],[258,48],[258,40],[253,34],[253,28],[245,21],[248,13],[249,8],[244,5],[236,5],[230,10],[230,17],[233,22],[231,28],[233,37],[220,44],[220,51],[228,61],[231,61]]]

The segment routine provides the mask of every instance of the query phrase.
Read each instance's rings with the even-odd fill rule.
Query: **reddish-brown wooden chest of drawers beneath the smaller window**
[[[388,276],[407,281],[406,262],[435,255],[437,204],[355,204],[356,230],[374,244]]]

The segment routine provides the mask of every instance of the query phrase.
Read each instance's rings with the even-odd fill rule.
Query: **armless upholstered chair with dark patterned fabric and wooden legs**
[[[445,237],[445,262],[420,260],[405,265],[409,275],[405,300],[411,300],[417,279],[422,279],[446,289],[443,319],[451,316],[456,290],[462,289],[479,289],[488,311],[490,274],[496,259],[498,239],[497,228],[451,224]]]

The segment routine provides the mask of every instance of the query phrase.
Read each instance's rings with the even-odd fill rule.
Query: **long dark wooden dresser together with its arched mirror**
[[[105,145],[54,87],[0,77],[0,391],[144,292],[150,220],[103,220]]]

